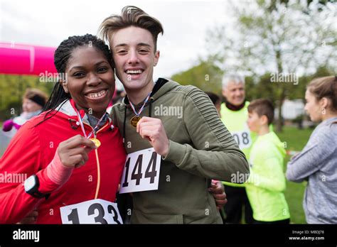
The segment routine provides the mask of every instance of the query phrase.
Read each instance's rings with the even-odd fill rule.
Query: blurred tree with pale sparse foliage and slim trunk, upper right
[[[269,74],[271,81],[277,77],[272,87],[279,108],[277,130],[282,131],[283,101],[298,86],[291,75],[298,79],[318,67],[336,71],[336,3],[232,1],[230,9],[232,26],[218,26],[208,33],[208,60],[224,72]]]

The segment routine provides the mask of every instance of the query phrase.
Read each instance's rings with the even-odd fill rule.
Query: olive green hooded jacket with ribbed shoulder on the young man
[[[151,148],[131,126],[133,116],[127,98],[112,108],[127,153]],[[210,179],[230,181],[250,170],[212,101],[196,87],[169,81],[151,95],[141,116],[161,119],[169,153],[161,160],[159,189],[133,193],[132,224],[221,224]]]

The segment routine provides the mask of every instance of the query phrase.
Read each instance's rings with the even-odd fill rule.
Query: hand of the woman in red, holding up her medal
[[[84,136],[73,136],[58,145],[58,156],[65,167],[79,168],[89,159],[88,153],[96,149],[95,143]]]

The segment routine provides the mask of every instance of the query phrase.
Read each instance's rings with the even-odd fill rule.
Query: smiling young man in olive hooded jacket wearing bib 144
[[[230,181],[250,170],[212,101],[193,86],[154,83],[163,28],[141,9],[124,7],[100,31],[127,92],[112,118],[129,155],[121,192],[133,192],[131,223],[221,224],[210,180]]]

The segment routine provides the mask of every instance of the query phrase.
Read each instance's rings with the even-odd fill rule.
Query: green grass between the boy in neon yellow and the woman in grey
[[[287,150],[300,151],[306,145],[312,131],[313,129],[308,128],[300,130],[295,127],[284,126],[283,132],[277,133],[277,136],[279,136],[281,141],[287,142]],[[287,168],[290,158],[287,155],[284,159],[284,170]],[[296,183],[287,181],[287,189],[284,194],[289,205],[291,223],[293,224],[306,224],[302,207],[305,188],[306,182]]]

